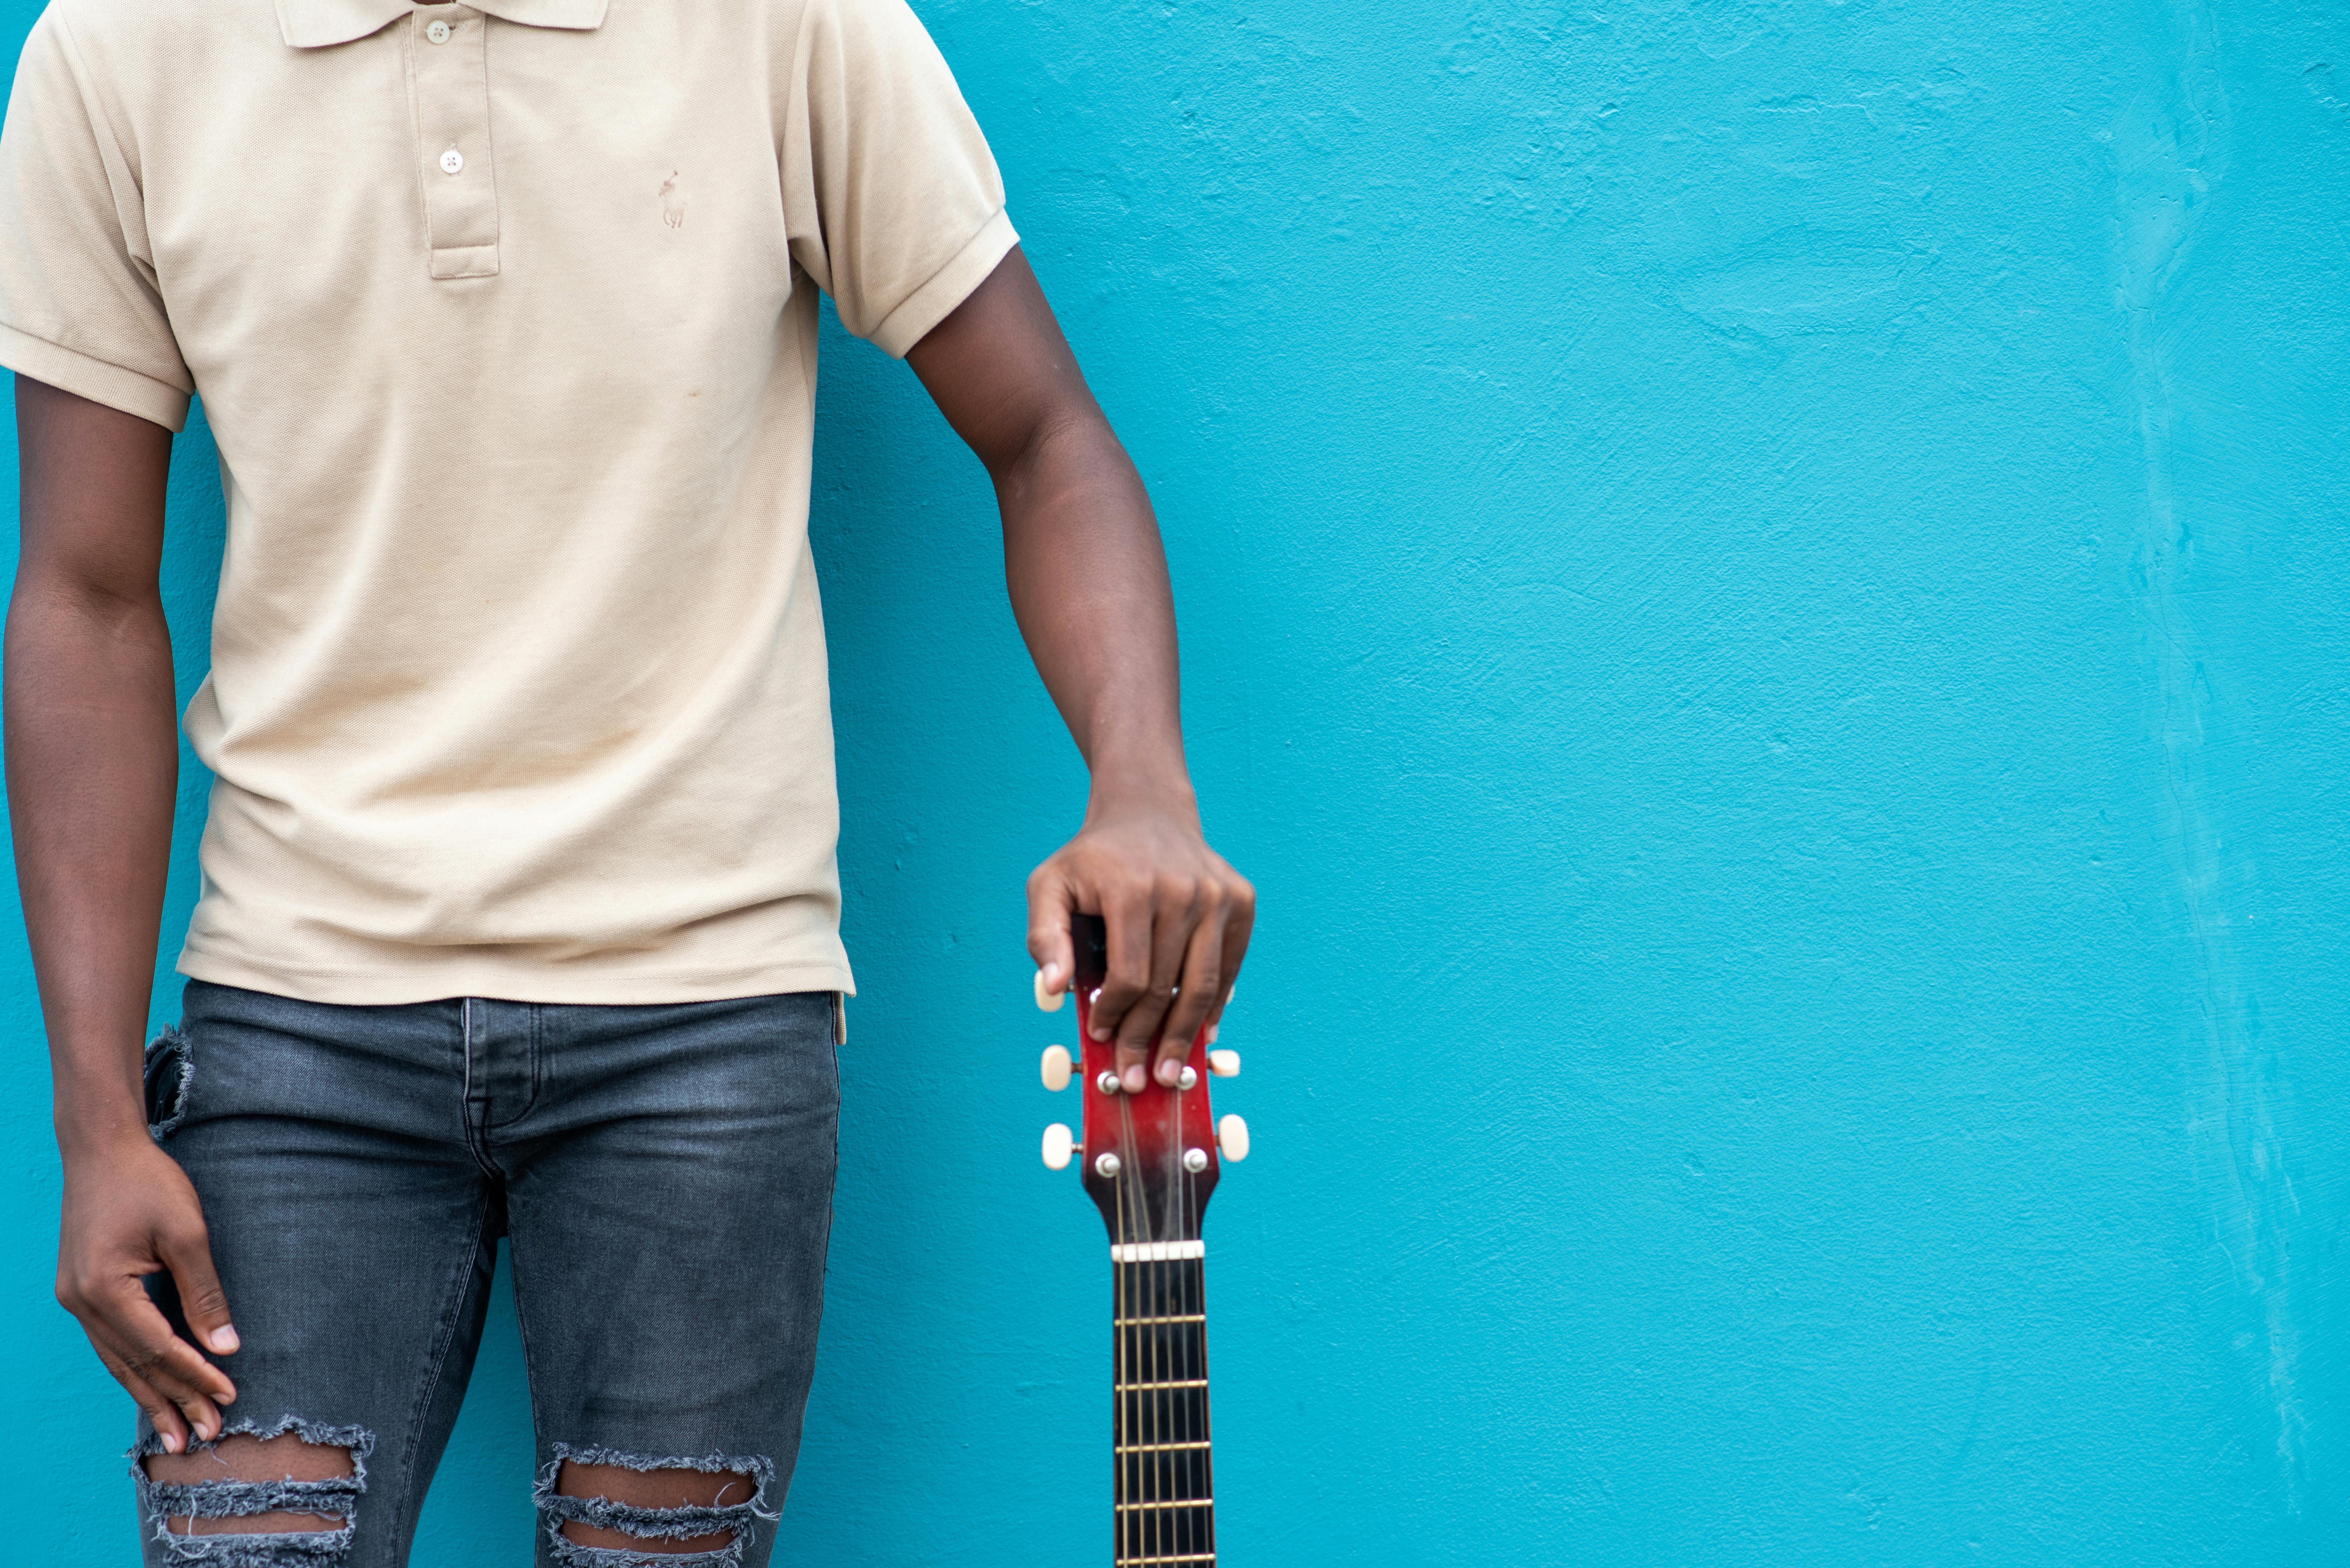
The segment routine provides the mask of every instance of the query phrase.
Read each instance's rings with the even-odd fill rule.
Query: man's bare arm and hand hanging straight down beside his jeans
[[[235,1387],[141,1279],[169,1269],[216,1354],[237,1338],[195,1187],[148,1138],[141,1091],[179,778],[155,581],[172,433],[16,376],[16,449],[7,795],[66,1171],[56,1298],[179,1450],[190,1427],[221,1429]]]

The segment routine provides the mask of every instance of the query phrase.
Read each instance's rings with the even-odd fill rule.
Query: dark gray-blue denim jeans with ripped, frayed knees
[[[832,992],[327,1006],[190,980],[148,1051],[148,1112],[204,1201],[242,1338],[223,1436],[291,1432],[348,1450],[350,1474],[157,1483],[141,1420],[146,1561],[404,1563],[510,1237],[536,1561],[766,1563],[822,1314],[837,1020]],[[176,1319],[167,1281],[150,1288]],[[754,1490],[667,1509],[562,1495],[564,1460]],[[193,1523],[273,1512],[336,1528]],[[566,1521],[672,1554],[580,1544]]]

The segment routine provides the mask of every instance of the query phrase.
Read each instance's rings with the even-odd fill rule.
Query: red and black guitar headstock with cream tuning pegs
[[[1248,1126],[1238,1117],[1215,1121],[1208,1105],[1208,1077],[1231,1077],[1241,1058],[1231,1051],[1201,1051],[1191,1058],[1177,1086],[1147,1084],[1128,1093],[1114,1067],[1116,1046],[1090,1034],[1093,992],[1107,976],[1107,933],[1097,914],[1079,914],[1076,938],[1076,1037],[1081,1056],[1062,1046],[1046,1051],[1048,1088],[1076,1084],[1086,1100],[1083,1143],[1069,1128],[1046,1128],[1043,1161],[1055,1171],[1072,1157],[1081,1159],[1086,1197],[1102,1211],[1116,1246],[1159,1241],[1198,1241],[1198,1220],[1215,1192],[1222,1159],[1248,1157]],[[1039,992],[1039,999],[1043,994]],[[1053,999],[1058,1006],[1060,999]],[[1194,1253],[1196,1255],[1196,1253]]]

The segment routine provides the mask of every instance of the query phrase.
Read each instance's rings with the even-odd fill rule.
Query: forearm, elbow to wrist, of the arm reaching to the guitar
[[[1090,409],[1050,425],[996,473],[996,501],[1013,616],[1095,804],[1152,799],[1196,820],[1166,555],[1119,437]]]

